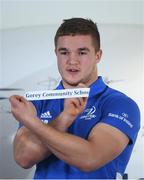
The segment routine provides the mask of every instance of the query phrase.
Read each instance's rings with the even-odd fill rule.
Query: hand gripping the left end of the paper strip
[[[11,103],[11,112],[19,122],[23,123],[23,120],[27,118],[36,117],[37,112],[35,107],[24,97],[13,95],[9,100]]]

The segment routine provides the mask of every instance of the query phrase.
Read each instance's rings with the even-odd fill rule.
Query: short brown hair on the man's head
[[[96,51],[100,49],[100,34],[97,24],[91,19],[71,18],[63,20],[54,38],[55,47],[57,46],[58,38],[65,35],[91,35]]]

